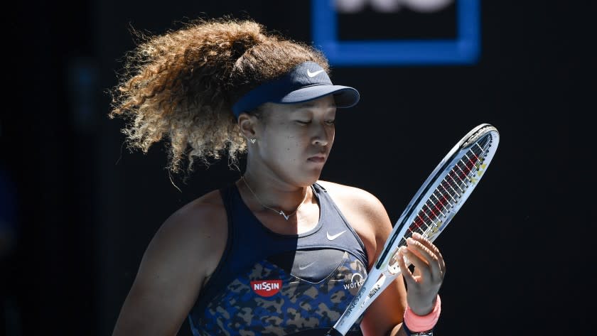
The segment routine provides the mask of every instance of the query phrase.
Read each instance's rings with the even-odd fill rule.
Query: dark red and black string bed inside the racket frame
[[[483,163],[490,146],[491,136],[483,136],[470,146],[423,203],[399,246],[405,245],[406,239],[415,232],[429,236],[439,228],[442,220],[458,205],[461,196],[473,182],[473,176]]]

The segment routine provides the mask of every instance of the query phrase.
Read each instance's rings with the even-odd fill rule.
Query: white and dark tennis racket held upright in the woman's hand
[[[483,177],[499,141],[495,127],[480,124],[456,143],[412,197],[357,295],[326,335],[345,335],[373,300],[399,276],[395,255],[407,244],[407,238],[417,232],[433,242],[446,229]]]

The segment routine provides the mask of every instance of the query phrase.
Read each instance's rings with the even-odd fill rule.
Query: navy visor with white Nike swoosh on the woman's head
[[[259,105],[272,102],[294,104],[307,102],[328,94],[333,94],[336,107],[353,107],[359,101],[359,92],[353,87],[333,85],[326,70],[315,62],[305,62],[294,67],[286,75],[266,82],[244,94],[232,106],[232,112],[238,116],[249,112]]]

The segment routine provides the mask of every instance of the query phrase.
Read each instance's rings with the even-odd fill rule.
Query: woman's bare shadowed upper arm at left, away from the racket
[[[162,224],[141,260],[113,336],[176,335],[222,255],[227,233],[222,216],[225,223],[217,206],[193,205]]]

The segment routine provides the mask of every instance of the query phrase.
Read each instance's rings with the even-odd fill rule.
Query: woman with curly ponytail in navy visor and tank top
[[[184,153],[191,167],[246,152],[247,167],[162,224],[113,335],[176,335],[187,317],[194,335],[323,335],[392,230],[375,196],[318,180],[336,109],[356,104],[357,90],[332,85],[317,50],[253,21],[191,23],[129,56],[110,116],[131,121],[132,146],[166,136],[172,171]],[[397,278],[351,333],[431,335],[442,256],[415,236],[398,259],[409,291]]]

